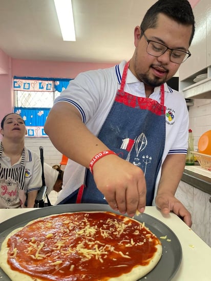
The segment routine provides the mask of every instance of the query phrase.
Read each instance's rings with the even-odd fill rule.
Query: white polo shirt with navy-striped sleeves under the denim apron
[[[80,112],[83,123],[97,136],[120,88],[125,63],[126,61],[122,61],[112,68],[80,73],[70,81],[68,88],[55,99],[54,103],[65,101],[74,105]],[[145,97],[144,83],[140,82],[130,70],[128,70],[124,91],[138,97]],[[162,161],[168,154],[186,154],[188,139],[188,111],[184,97],[168,87],[166,83],[164,91],[166,136]],[[154,89],[150,98],[160,102],[160,87]],[[64,186],[56,203],[65,199],[83,183],[83,170],[84,167],[72,160],[68,161],[64,172]],[[160,180],[160,174],[161,171],[156,185]]]

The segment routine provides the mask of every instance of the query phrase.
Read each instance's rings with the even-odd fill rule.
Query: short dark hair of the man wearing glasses
[[[141,29],[145,31],[148,28],[156,28],[158,15],[162,13],[168,17],[173,18],[180,24],[192,25],[192,34],[189,39],[189,45],[195,33],[195,19],[191,5],[187,0],[159,0],[145,13]]]

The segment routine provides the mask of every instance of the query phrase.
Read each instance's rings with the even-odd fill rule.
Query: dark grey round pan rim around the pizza
[[[0,247],[5,237],[13,229],[22,227],[32,220],[51,214],[78,211],[115,212],[109,205],[106,204],[66,204],[35,209],[33,211],[16,215],[15,217],[0,224]],[[139,216],[135,216],[134,219],[144,222],[145,226],[149,227],[149,229],[155,233],[158,238],[166,235],[167,238],[171,240],[170,242],[167,240],[161,240],[163,253],[159,263],[150,273],[139,279],[139,281],[170,281],[179,269],[182,260],[182,248],[177,236],[168,226],[153,218],[151,215],[143,213]],[[11,281],[1,268],[0,280]]]

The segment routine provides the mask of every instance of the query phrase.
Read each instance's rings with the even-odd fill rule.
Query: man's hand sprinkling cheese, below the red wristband
[[[107,155],[93,166],[97,188],[114,210],[133,217],[143,212],[146,204],[146,183],[143,171],[116,155]]]

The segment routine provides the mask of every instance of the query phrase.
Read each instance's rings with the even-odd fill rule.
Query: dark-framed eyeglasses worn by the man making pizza
[[[159,57],[163,55],[167,50],[170,50],[171,51],[170,60],[178,64],[184,62],[188,57],[191,56],[189,50],[187,50],[187,52],[184,52],[184,51],[168,48],[164,44],[158,43],[153,40],[149,40],[143,31],[142,34],[147,42],[146,52],[151,56]]]

